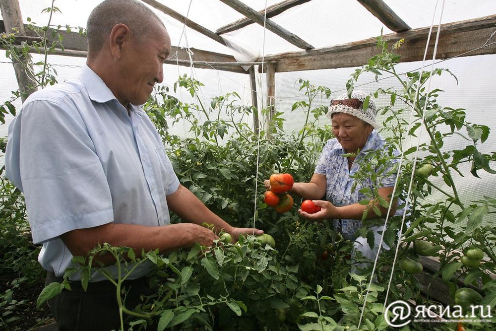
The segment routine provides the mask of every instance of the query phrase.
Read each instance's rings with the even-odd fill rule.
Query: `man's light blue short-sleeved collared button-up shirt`
[[[110,222],[169,224],[165,198],[179,187],[143,109],[125,109],[88,66],[25,101],[9,126],[5,170],[24,193],[34,243],[43,243],[39,261],[58,276],[72,258],[63,233]]]

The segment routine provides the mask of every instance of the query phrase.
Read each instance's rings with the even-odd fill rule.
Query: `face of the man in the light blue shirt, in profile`
[[[124,103],[142,105],[153,91],[155,83],[164,79],[163,64],[171,52],[171,39],[160,24],[151,27],[145,40],[132,39],[127,48],[122,72],[118,73],[120,95]]]

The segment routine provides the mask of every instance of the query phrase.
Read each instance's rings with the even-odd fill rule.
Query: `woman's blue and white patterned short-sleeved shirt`
[[[343,154],[346,153],[345,149],[341,146],[336,138],[331,138],[327,141],[317,166],[315,173],[325,175],[326,178],[326,199],[335,206],[345,206],[357,203],[367,196],[360,192],[364,187],[373,188],[375,183],[372,179],[357,180],[356,187],[353,189],[355,179],[352,177],[360,169],[360,161],[364,158],[368,150],[382,150],[384,149],[384,139],[373,130],[369,135],[367,142],[359,155],[357,155],[355,162],[351,169],[348,169],[348,160]],[[396,162],[396,160],[392,160]],[[391,173],[388,177],[382,178],[380,187],[393,187],[396,181],[396,174]],[[362,221],[356,219],[335,219],[334,227],[340,231],[345,239],[355,239],[356,231],[362,227]]]

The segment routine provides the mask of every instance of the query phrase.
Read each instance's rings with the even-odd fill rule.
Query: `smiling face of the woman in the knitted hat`
[[[332,115],[332,133],[348,153],[362,150],[372,130],[370,124],[353,115],[345,113]]]

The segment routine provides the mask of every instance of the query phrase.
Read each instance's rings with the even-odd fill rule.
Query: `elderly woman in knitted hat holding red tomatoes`
[[[360,204],[359,201],[367,199],[361,193],[362,188],[377,189],[378,195],[390,201],[396,174],[390,172],[387,176],[380,177],[380,182],[374,181],[373,176],[368,178],[354,178],[354,175],[366,163],[366,154],[371,150],[383,150],[384,139],[377,133],[379,125],[375,121],[375,104],[369,101],[367,109],[363,109],[367,97],[362,91],[354,91],[351,98],[345,93],[336,100],[332,100],[328,116],[332,122],[331,138],[325,144],[315,172],[309,183],[294,183],[290,192],[304,199],[312,199],[321,207],[321,210],[309,214],[299,210],[303,217],[311,220],[333,219],[334,228],[345,239],[354,240],[355,249],[362,252],[366,258],[373,260],[377,254],[380,243],[380,232],[383,226],[372,227],[375,232],[375,245],[371,249],[367,239],[357,238],[357,230],[362,227],[362,216],[369,209],[367,219],[378,218],[372,211],[373,200],[369,205]],[[353,156],[345,157],[344,154]],[[394,162],[394,160],[393,160]],[[388,170],[391,170],[391,164]],[[363,177],[363,176],[362,176]],[[267,186],[267,183],[266,183]],[[321,200],[325,198],[325,200]],[[387,208],[378,203],[381,215],[384,217]],[[393,203],[390,214],[394,214],[396,203]],[[387,245],[383,245],[388,249]]]

